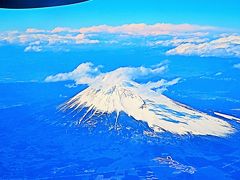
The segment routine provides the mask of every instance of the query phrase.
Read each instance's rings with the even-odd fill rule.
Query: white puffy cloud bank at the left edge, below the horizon
[[[40,52],[45,49],[66,49],[67,45],[99,43],[98,40],[90,39],[82,33],[61,34],[60,29],[54,29],[51,32],[33,28],[29,28],[25,32],[10,31],[0,33],[0,42],[23,45],[25,46],[25,52]]]

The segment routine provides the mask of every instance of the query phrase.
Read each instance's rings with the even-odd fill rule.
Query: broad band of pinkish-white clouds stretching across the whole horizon
[[[22,45],[25,52],[70,51],[86,45],[107,45],[156,47],[165,49],[163,53],[166,55],[240,57],[238,34],[191,24],[99,25],[79,29],[56,27],[52,30],[29,28],[24,32],[0,32],[0,44]]]

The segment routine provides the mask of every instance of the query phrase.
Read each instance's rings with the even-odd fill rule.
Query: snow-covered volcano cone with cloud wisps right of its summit
[[[124,112],[135,120],[146,122],[155,132],[226,136],[234,131],[229,123],[152,90],[156,86],[161,89],[172,85],[179,79],[146,84],[134,81],[137,73],[159,73],[160,69],[119,68],[109,73],[101,73],[89,83],[88,88],[66,102],[63,108],[77,111],[87,108],[79,120],[80,123],[86,116],[91,118],[94,115],[111,113],[117,114],[117,123],[119,113]]]

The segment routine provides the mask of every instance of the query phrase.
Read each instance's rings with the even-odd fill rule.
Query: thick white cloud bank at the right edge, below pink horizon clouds
[[[199,44],[183,43],[166,52],[168,55],[240,57],[240,36],[230,35]]]

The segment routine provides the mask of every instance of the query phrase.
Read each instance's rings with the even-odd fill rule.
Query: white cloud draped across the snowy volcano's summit
[[[74,81],[76,84],[92,84],[94,81],[98,81],[103,77],[111,77],[113,81],[122,80],[136,80],[139,78],[146,78],[150,76],[156,76],[165,72],[166,65],[158,65],[155,68],[140,67],[120,67],[114,71],[107,73],[100,72],[101,66],[94,66],[90,62],[80,64],[76,69],[67,73],[59,73],[56,75],[48,76],[46,82],[58,82],[58,81]],[[109,80],[109,78],[108,78]],[[167,85],[167,82],[164,81]]]

